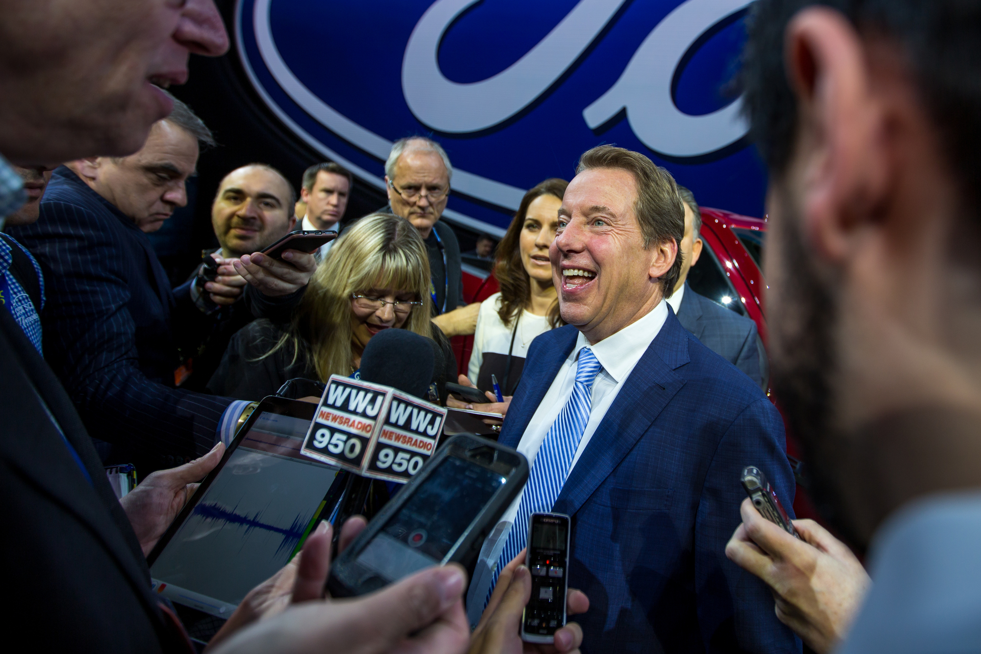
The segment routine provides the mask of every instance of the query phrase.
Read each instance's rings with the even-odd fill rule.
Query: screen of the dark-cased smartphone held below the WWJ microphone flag
[[[439,565],[506,482],[483,465],[447,457],[365,546],[357,563],[387,581]]]

